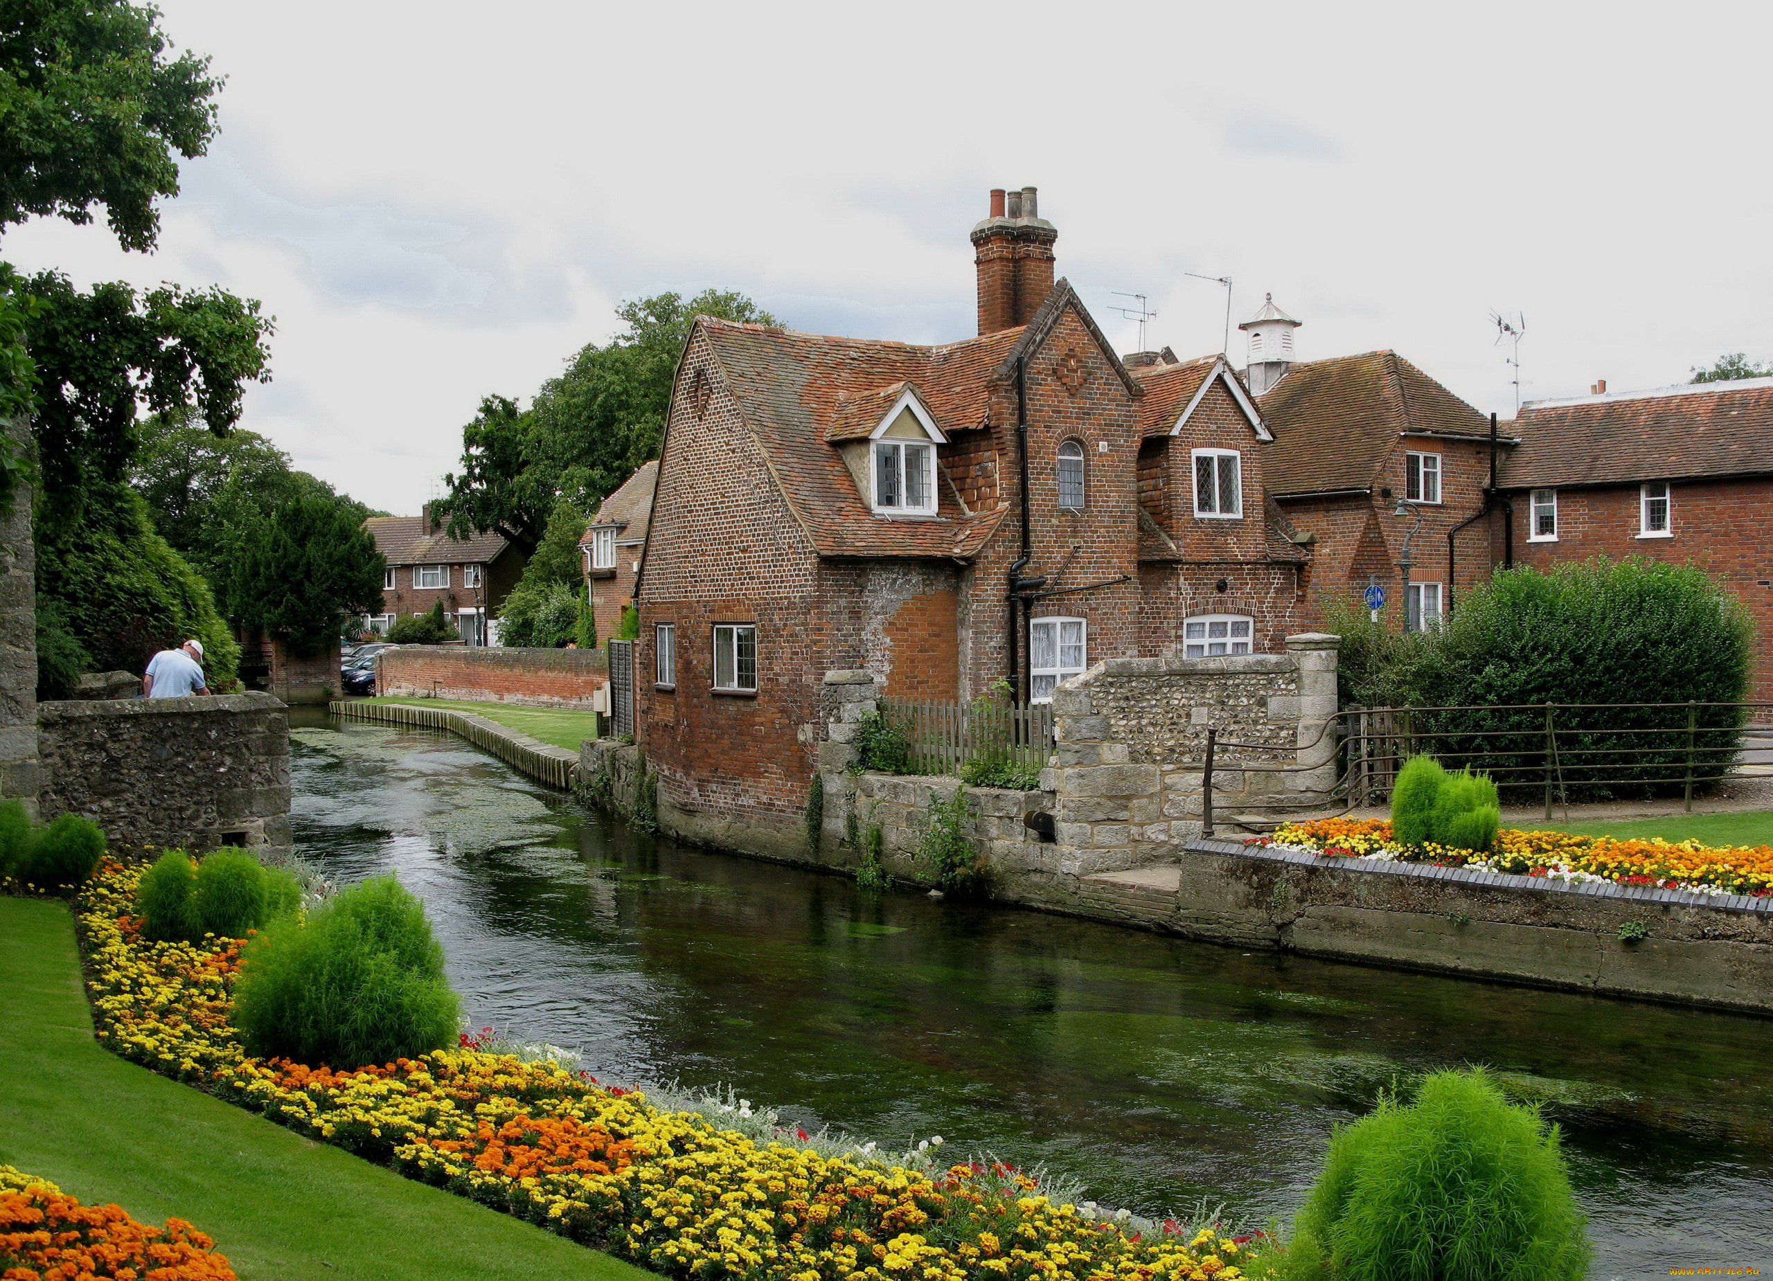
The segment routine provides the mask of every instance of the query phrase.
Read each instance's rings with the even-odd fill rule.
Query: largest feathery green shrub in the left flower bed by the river
[[[456,1040],[461,1001],[424,905],[376,877],[248,944],[234,1024],[252,1054],[356,1068]]]

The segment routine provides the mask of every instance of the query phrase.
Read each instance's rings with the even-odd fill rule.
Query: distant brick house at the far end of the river
[[[387,633],[395,618],[431,613],[441,601],[468,645],[498,643],[498,609],[523,576],[521,551],[498,533],[452,539],[431,521],[429,507],[424,516],[371,516],[363,528],[388,562],[371,631]]]

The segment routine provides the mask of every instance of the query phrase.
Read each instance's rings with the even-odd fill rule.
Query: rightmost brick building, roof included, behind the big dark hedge
[[[1748,698],[1773,702],[1773,377],[1528,400],[1502,470],[1514,562],[1693,563],[1755,620]],[[1753,718],[1769,721],[1766,710]]]

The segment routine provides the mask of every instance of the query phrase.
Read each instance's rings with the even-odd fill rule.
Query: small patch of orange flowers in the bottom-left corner
[[[0,1166],[0,1276],[7,1281],[236,1281],[215,1242],[183,1219],[137,1223],[80,1205],[55,1184]]]

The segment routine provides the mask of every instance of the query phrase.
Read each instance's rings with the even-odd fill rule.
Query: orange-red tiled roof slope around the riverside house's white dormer
[[[991,377],[1023,330],[915,347],[707,317],[697,324],[821,555],[970,556],[996,528],[1002,509],[966,514],[949,485],[938,487],[934,517],[876,516],[830,438],[840,420],[849,429],[878,408],[872,431],[902,383],[917,386],[943,434],[984,427]]]

